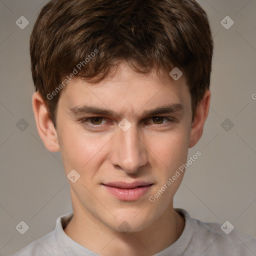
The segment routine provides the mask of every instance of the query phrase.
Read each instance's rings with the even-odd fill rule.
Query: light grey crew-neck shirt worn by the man
[[[154,256],[255,256],[256,238],[233,229],[225,234],[220,224],[204,223],[191,218],[183,210],[175,210],[184,217],[185,227],[180,237]],[[58,217],[55,230],[31,242],[13,256],[97,256],[73,241],[64,232],[72,212]],[[224,226],[226,227],[226,226]]]

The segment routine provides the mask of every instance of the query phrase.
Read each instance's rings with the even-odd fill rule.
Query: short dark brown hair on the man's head
[[[65,85],[66,76],[73,72],[99,82],[120,61],[144,73],[177,66],[186,77],[194,116],[209,88],[212,50],[207,15],[195,0],[50,0],[30,37],[33,82],[54,125],[56,88]],[[83,64],[76,73],[78,63]]]

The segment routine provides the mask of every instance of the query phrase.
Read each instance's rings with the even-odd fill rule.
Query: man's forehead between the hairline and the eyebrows
[[[84,104],[129,111],[180,103],[190,105],[190,93],[182,75],[178,80],[169,73],[138,73],[122,63],[108,77],[98,83],[88,83],[79,78],[68,82],[59,99],[69,109]],[[63,106],[63,105],[62,105]]]

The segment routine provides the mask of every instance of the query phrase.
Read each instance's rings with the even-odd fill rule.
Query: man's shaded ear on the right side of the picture
[[[203,98],[197,104],[194,119],[190,130],[189,148],[194,146],[200,139],[203,131],[204,122],[208,116],[210,105],[210,91],[206,90]]]

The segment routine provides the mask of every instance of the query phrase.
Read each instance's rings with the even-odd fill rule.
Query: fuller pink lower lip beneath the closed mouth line
[[[119,188],[114,186],[104,185],[106,190],[111,193],[113,196],[120,200],[124,201],[134,201],[144,195],[151,187],[151,185],[147,186],[139,186],[135,188]]]

